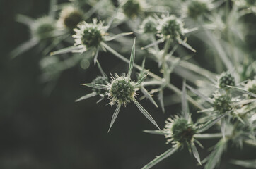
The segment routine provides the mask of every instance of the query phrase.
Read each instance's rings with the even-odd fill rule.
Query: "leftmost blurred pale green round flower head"
[[[31,25],[31,33],[37,39],[47,39],[54,35],[56,30],[56,22],[49,16],[37,18]]]

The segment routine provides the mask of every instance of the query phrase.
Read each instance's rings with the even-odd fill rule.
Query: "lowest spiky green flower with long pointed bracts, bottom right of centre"
[[[197,147],[194,143],[199,144],[202,146],[197,139],[205,138],[205,137],[216,137],[216,135],[221,136],[220,133],[218,134],[201,134],[205,132],[210,127],[215,125],[219,120],[221,120],[226,114],[217,115],[214,119],[206,121],[205,123],[196,122],[192,123],[191,115],[187,105],[187,98],[186,98],[186,84],[183,82],[182,87],[182,113],[180,115],[175,115],[174,118],[168,118],[165,121],[165,127],[163,130],[144,130],[144,132],[151,133],[151,134],[161,134],[164,135],[167,139],[167,144],[172,143],[172,147],[165,151],[160,156],[157,156],[153,161],[149,162],[145,165],[142,169],[149,169],[153,165],[156,165],[163,159],[171,156],[178,151],[180,147],[187,146],[189,151],[193,154],[194,158],[197,159],[197,162],[201,164],[200,157],[197,151]]]

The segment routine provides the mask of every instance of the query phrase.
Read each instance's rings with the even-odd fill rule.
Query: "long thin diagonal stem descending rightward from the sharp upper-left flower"
[[[107,44],[102,43],[102,45],[105,47],[105,49],[107,49],[108,51],[110,51],[110,53],[114,54],[115,56],[117,56],[117,58],[120,58],[122,61],[124,61],[125,63],[129,63],[129,60],[127,58],[125,58],[124,56],[122,56],[121,54],[119,54],[117,51],[115,51],[114,49],[112,49],[110,46],[107,46]],[[141,68],[141,66],[136,65],[134,63],[134,68],[136,68],[137,70],[142,70],[143,68]],[[161,77],[159,77],[158,75],[151,73],[150,71],[148,72],[148,75],[150,77],[153,77],[154,79],[158,80],[159,82],[165,82]],[[166,87],[170,90],[172,90],[173,92],[182,95],[182,91],[180,89],[178,89],[177,87],[175,87],[173,84],[170,83],[165,83]],[[195,101],[194,99],[192,99],[192,97],[187,95],[187,100],[190,101],[191,104],[193,104],[194,106],[196,106],[197,108],[199,108],[199,110],[204,110],[205,108],[201,105],[199,105],[197,103],[197,101]]]

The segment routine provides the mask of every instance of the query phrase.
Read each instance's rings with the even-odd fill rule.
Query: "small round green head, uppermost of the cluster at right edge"
[[[235,78],[229,72],[221,73],[219,77],[219,87],[223,89],[227,89],[227,85],[235,86]]]

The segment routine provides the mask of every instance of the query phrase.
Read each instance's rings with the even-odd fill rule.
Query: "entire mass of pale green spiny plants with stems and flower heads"
[[[11,57],[43,46],[38,54],[43,56],[40,79],[45,84],[57,82],[59,75],[71,67],[81,66],[87,71],[90,65],[96,65],[100,75],[82,84],[91,87],[91,93],[76,101],[100,96],[99,101],[107,99],[115,105],[108,132],[121,107],[134,103],[158,129],[144,132],[163,135],[169,145],[163,154],[138,168],[151,168],[175,156],[176,151],[188,149],[199,165],[214,169],[225,151],[235,146],[256,146],[256,53],[251,47],[255,44],[246,40],[250,36],[255,39],[255,30],[250,28],[255,26],[255,3],[72,0],[52,4],[49,15],[36,19],[17,16],[18,22],[30,28],[31,38],[14,49]],[[105,73],[101,67],[105,63],[100,63],[98,56],[127,63],[127,70],[120,70],[126,73]],[[146,61],[153,61],[158,69],[149,67]],[[173,81],[173,74],[183,80],[182,86]],[[165,99],[170,93],[179,99]],[[139,104],[139,98],[148,99],[170,115],[162,130],[158,127],[161,122]],[[168,104],[177,104],[180,111],[172,112]],[[200,139],[218,140],[205,157],[197,150],[197,146],[204,148]],[[255,159],[229,160],[243,168],[256,166]]]

